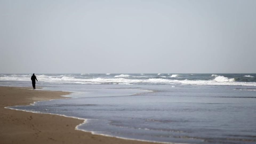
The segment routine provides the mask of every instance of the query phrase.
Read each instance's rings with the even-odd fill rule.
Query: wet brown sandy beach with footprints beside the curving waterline
[[[33,90],[30,87],[0,87],[0,143],[149,143],[125,140],[75,130],[83,120],[51,114],[6,109],[35,101],[65,98],[63,91]]]

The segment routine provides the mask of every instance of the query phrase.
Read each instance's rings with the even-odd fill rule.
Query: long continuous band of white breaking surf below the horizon
[[[227,78],[218,76],[214,79],[206,80],[188,80],[188,79],[169,79],[170,77],[162,76],[155,77],[143,76],[137,77],[128,74],[116,75],[112,78],[102,76],[91,77],[91,75],[53,75],[41,74],[37,75],[38,81],[57,82],[57,83],[79,83],[79,84],[147,84],[147,85],[241,85],[241,86],[256,86],[256,82],[238,82],[236,78]],[[0,80],[2,81],[30,81],[31,74],[1,74]],[[176,76],[177,77],[177,76]],[[180,76],[181,77],[181,76]]]

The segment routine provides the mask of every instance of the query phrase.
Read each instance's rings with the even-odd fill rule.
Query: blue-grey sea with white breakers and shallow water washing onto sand
[[[76,129],[176,143],[256,143],[256,74],[35,74],[63,99],[8,107],[84,119]],[[0,74],[31,86],[31,74]]]

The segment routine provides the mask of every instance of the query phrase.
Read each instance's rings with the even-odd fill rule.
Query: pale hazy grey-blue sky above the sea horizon
[[[256,73],[255,7],[0,0],[0,73]]]

